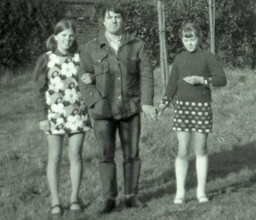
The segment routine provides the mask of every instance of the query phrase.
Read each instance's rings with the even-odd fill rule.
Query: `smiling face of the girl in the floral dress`
[[[62,53],[67,53],[69,48],[75,41],[75,32],[73,29],[66,29],[55,35],[55,40],[58,43],[58,49]]]

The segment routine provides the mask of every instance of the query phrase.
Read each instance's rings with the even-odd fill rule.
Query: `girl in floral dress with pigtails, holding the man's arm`
[[[82,177],[82,146],[86,130],[90,128],[87,108],[81,100],[77,73],[80,58],[75,40],[75,27],[69,20],[61,20],[48,38],[46,48],[34,70],[35,109],[40,129],[47,134],[47,178],[51,191],[51,214],[61,216],[59,198],[59,164],[65,135],[68,135],[71,197],[69,210],[81,211],[78,201]]]

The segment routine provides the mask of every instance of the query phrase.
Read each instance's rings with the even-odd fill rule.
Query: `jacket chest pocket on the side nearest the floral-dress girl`
[[[107,60],[107,56],[108,56],[107,53],[99,54],[93,60],[93,62],[94,62],[94,73],[95,73],[96,77],[99,74],[108,74],[108,73],[110,73],[110,66],[109,66],[109,62]]]

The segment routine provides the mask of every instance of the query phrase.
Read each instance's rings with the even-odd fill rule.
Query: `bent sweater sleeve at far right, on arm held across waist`
[[[222,87],[227,84],[227,77],[223,67],[211,52],[209,52],[209,57],[206,59],[206,65],[212,75],[211,77],[204,77],[204,85],[206,87]]]

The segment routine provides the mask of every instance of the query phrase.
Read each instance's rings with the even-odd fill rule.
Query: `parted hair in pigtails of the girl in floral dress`
[[[55,40],[55,35],[59,34],[60,32],[63,32],[63,30],[72,29],[76,33],[74,23],[70,20],[60,20],[57,25],[55,26],[54,34],[51,35],[48,40],[46,41],[46,48],[47,50],[50,50],[54,52],[58,48],[58,43]],[[69,51],[71,53],[76,52],[78,49],[78,43],[75,39],[74,43],[72,44],[71,48],[69,48]]]

